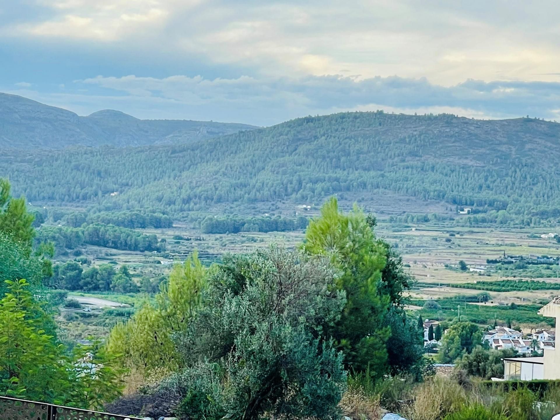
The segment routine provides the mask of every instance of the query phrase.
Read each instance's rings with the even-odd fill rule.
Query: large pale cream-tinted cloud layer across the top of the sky
[[[0,35],[125,49],[159,63],[193,55],[244,74],[552,81],[560,68],[560,3],[405,0],[35,0],[46,12]],[[547,13],[538,12],[546,9]],[[3,28],[3,30],[2,30]],[[165,58],[167,55],[167,58]],[[158,55],[159,57],[159,55]]]

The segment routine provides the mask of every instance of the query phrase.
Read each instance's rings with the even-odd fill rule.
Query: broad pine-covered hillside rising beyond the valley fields
[[[343,113],[188,144],[6,151],[0,173],[31,202],[107,211],[389,191],[534,222],[560,215],[559,138],[560,124],[529,118]]]

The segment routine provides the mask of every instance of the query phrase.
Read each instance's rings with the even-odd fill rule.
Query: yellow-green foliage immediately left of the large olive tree
[[[183,366],[171,338],[188,328],[202,304],[206,273],[197,254],[193,254],[184,264],[173,267],[169,281],[161,283],[155,302],[144,302],[127,323],[111,330],[108,349],[121,355],[122,366],[137,367],[145,375]]]

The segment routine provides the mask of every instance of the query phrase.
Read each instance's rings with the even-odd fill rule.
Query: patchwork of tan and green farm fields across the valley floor
[[[309,216],[318,212],[312,209]],[[172,228],[145,229],[145,234],[155,234],[158,240],[165,239],[167,249],[163,253],[119,251],[97,246],[85,246],[83,256],[92,265],[112,263],[115,267],[126,264],[136,281],[142,276],[167,276],[173,264],[183,262],[195,250],[204,264],[219,262],[225,253],[249,253],[255,249],[268,246],[270,243],[284,244],[293,248],[304,241],[305,230],[292,232],[243,232],[239,234],[202,234],[200,230],[187,223],[175,223]],[[534,279],[558,285],[558,266],[545,267],[548,277],[534,278],[533,268],[503,272],[492,269],[487,259],[500,258],[506,255],[560,255],[560,244],[556,241],[540,238],[540,234],[548,233],[539,229],[504,229],[497,228],[461,228],[440,225],[395,225],[384,220],[379,221],[376,233],[393,244],[403,256],[405,267],[417,279],[417,284],[408,292],[411,312],[421,314],[423,318],[452,320],[456,317],[455,308],[462,305],[465,318],[480,324],[491,324],[494,319],[502,322],[511,321],[519,328],[530,329],[536,325],[545,325],[545,319],[536,314],[539,305],[543,305],[552,297],[560,295],[559,290],[543,288],[542,290],[516,290],[494,292],[488,291],[487,302],[463,302],[458,295],[474,296],[484,290],[472,290],[458,286],[477,281],[496,282],[505,279]],[[539,236],[539,237],[535,237]],[[72,260],[72,256],[59,258],[60,262]],[[484,265],[484,273],[461,271],[460,260],[467,265]],[[511,270],[510,270],[511,271]],[[506,274],[506,275],[505,275]],[[552,286],[551,286],[552,287]],[[78,313],[59,318],[64,330],[71,331],[73,339],[83,339],[88,334],[106,335],[111,325],[125,316],[129,316],[134,307],[141,304],[146,295],[119,295],[112,292],[80,293],[74,295],[102,298],[130,307],[129,311],[119,313],[108,309],[95,313]],[[423,309],[428,300],[437,300],[442,306],[440,311]],[[471,299],[473,300],[473,299]],[[474,299],[475,300],[475,299]],[[519,305],[519,309],[509,309],[511,304]],[[77,317],[77,318],[76,318]]]

